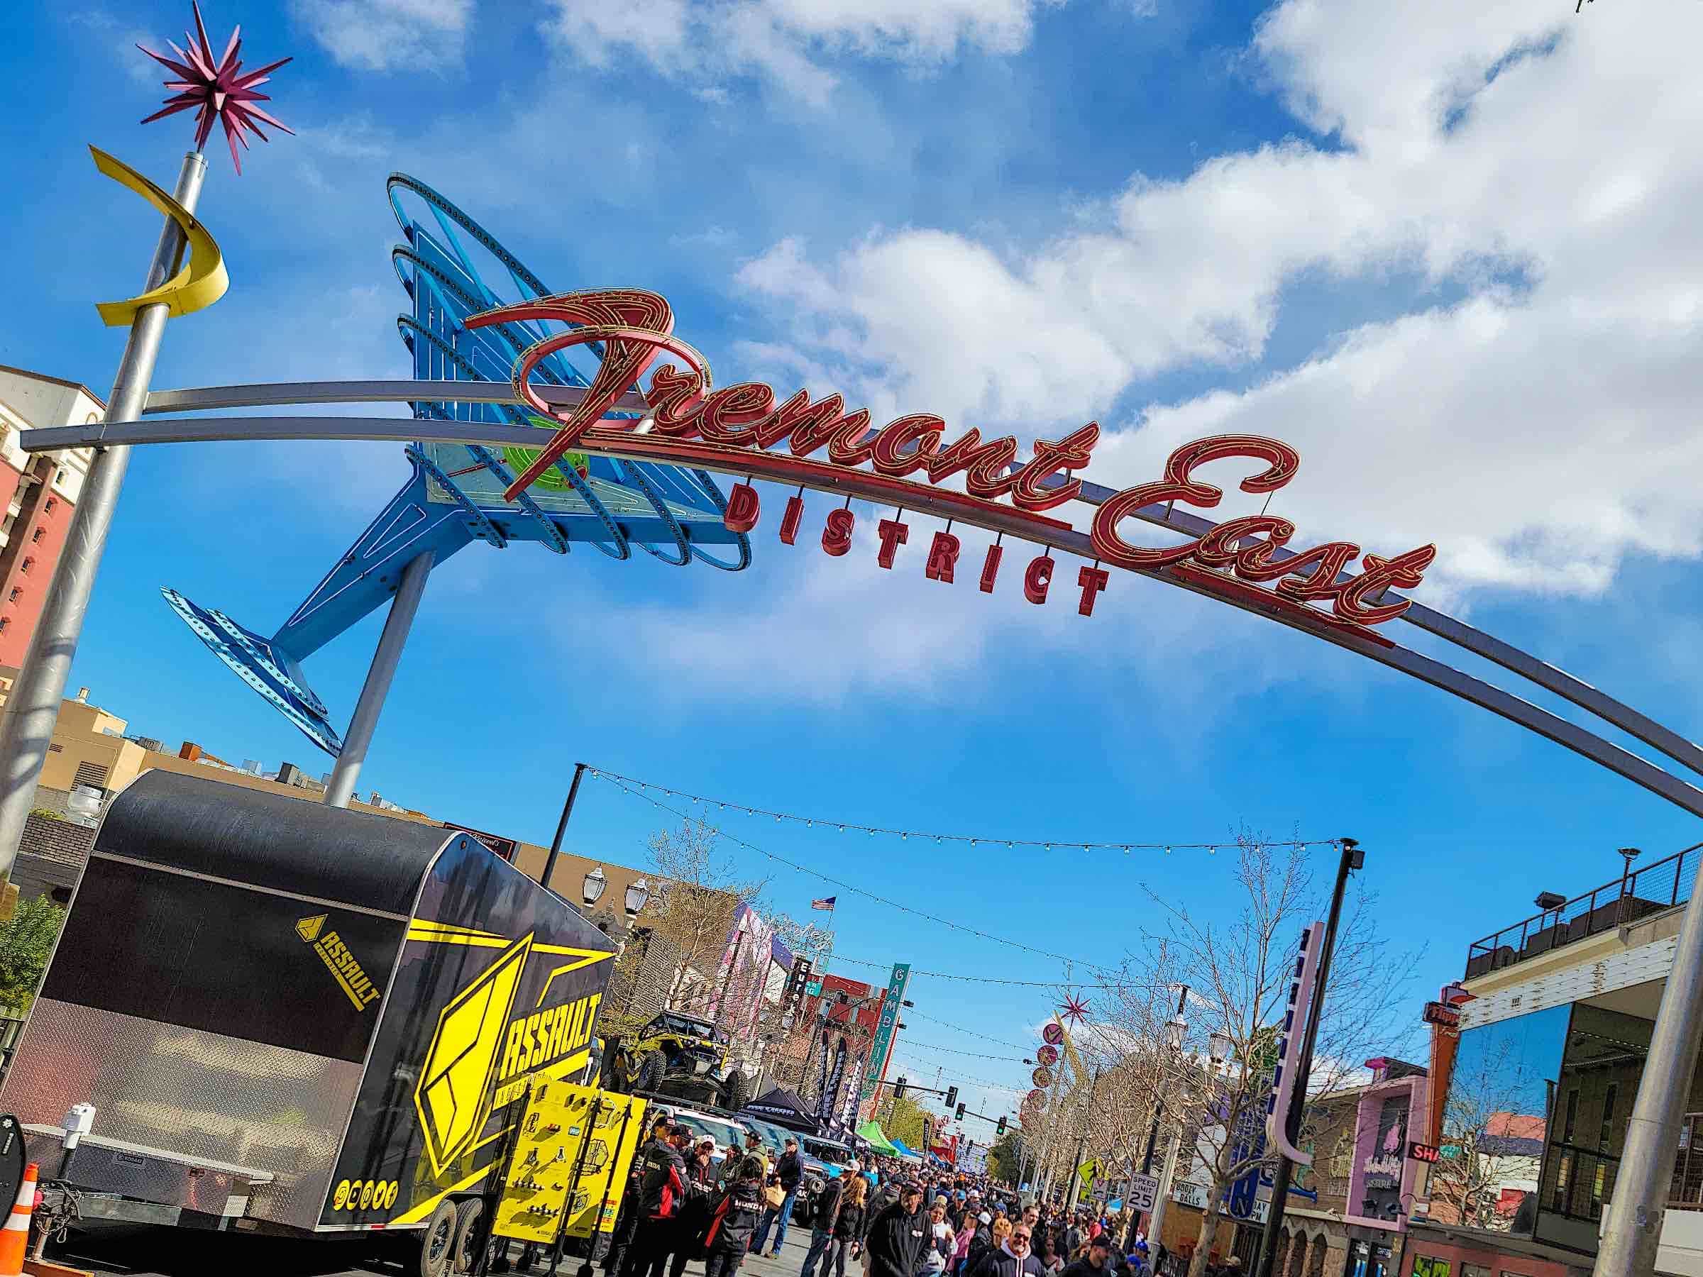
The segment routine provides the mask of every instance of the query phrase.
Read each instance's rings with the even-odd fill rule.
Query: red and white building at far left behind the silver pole
[[[24,431],[99,421],[87,387],[0,364],[0,664],[19,666],[82,495],[90,451],[26,453]]]

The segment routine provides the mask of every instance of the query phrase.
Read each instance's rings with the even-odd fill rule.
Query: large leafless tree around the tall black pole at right
[[[1206,1270],[1230,1188],[1276,1163],[1276,1151],[1257,1137],[1270,1093],[1276,1025],[1301,928],[1327,906],[1304,848],[1272,846],[1243,833],[1235,863],[1236,901],[1228,921],[1148,890],[1158,926],[1143,931],[1143,950],[1109,977],[1117,988],[1102,998],[1112,1032],[1129,1044],[1126,1090],[1138,1112],[1156,1114],[1168,1131],[1182,1132],[1185,1151],[1194,1153],[1196,1182],[1207,1190],[1189,1277]],[[1337,930],[1308,1086],[1315,1103],[1359,1081],[1359,1061],[1369,1049],[1402,1045],[1393,1010],[1413,962],[1391,960],[1374,933],[1371,906],[1369,896],[1350,897]],[[1173,1027],[1184,986],[1187,1025]],[[1228,1040],[1228,1052],[1216,1061],[1206,1049],[1214,1032]]]

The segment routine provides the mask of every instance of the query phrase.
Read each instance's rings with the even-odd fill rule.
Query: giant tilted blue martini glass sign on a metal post
[[[410,310],[397,317],[397,330],[414,359],[416,380],[436,383],[434,393],[443,395],[409,400],[414,415],[422,422],[542,426],[553,432],[559,422],[538,417],[528,405],[475,402],[460,387],[444,385],[482,381],[506,390],[519,352],[555,330],[523,320],[468,329],[472,315],[504,305],[480,272],[482,261],[487,271],[506,274],[507,291],[523,298],[545,298],[550,289],[490,232],[424,182],[392,174],[388,196],[404,237],[390,259],[410,301]],[[589,344],[576,354],[601,356],[603,349]],[[540,359],[535,375],[547,388],[591,385],[567,351]],[[167,393],[160,402],[174,400]],[[616,417],[630,421],[640,409]],[[569,451],[528,489],[504,495],[514,475],[535,467],[536,448],[424,438],[410,441],[404,455],[410,470],[402,490],[271,637],[163,589],[172,610],[220,661],[339,759],[329,802],[346,804],[354,790],[426,576],[463,547],[484,541],[502,550],[531,541],[565,555],[577,541],[611,558],[630,558],[639,547],[673,567],[697,560],[729,572],[751,562],[749,538],[724,526],[727,502],[700,468]],[[301,662],[392,596],[385,637],[346,741]]]

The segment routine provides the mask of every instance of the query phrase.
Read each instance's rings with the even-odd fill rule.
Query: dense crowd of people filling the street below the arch
[[[770,1165],[756,1134],[717,1166],[710,1139],[657,1119],[634,1161],[628,1200],[603,1268],[610,1277],[732,1277],[746,1255],[778,1257],[804,1163],[795,1139]],[[811,1211],[799,1277],[1175,1277],[1139,1216],[1020,1197],[984,1175],[862,1156],[829,1178]],[[1238,1277],[1231,1255],[1211,1277]]]

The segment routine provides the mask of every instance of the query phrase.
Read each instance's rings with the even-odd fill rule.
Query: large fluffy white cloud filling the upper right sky
[[[826,254],[783,240],[739,281],[834,388],[1044,432],[1115,426],[1115,397],[1158,373],[1259,369],[1301,272],[1361,305],[1419,279],[1417,308],[1322,334],[1245,393],[1148,409],[1102,443],[1093,477],[1155,477],[1185,438],[1274,434],[1303,455],[1272,499],[1298,545],[1436,540],[1444,589],[1599,591],[1626,553],[1703,545],[1703,80],[1686,53],[1703,7],[1597,17],[1289,0],[1253,53],[1339,148],[1291,140],[1184,180],[1138,175],[1097,221],[1024,254],[877,230]]]

